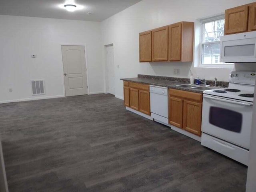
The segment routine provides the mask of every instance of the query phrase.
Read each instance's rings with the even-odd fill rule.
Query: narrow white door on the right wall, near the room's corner
[[[106,90],[115,95],[115,66],[114,66],[114,47],[106,46]]]

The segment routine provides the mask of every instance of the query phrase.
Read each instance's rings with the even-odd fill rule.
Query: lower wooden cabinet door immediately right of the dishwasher
[[[169,96],[169,123],[182,128],[183,100]]]

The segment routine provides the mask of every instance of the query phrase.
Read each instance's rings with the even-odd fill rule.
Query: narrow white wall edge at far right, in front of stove
[[[254,94],[256,93],[256,86]],[[256,103],[256,97],[254,97]],[[252,114],[252,132],[250,140],[250,158],[247,172],[246,192],[256,192],[256,106],[253,106]]]

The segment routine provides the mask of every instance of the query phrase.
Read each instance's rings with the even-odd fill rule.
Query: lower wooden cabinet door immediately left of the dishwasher
[[[150,93],[149,91],[139,90],[140,112],[150,115]]]

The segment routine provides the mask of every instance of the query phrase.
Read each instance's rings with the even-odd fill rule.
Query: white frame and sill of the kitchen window
[[[234,63],[223,63],[223,64],[202,64],[203,60],[203,45],[206,44],[214,44],[214,43],[220,43],[220,41],[214,41],[214,42],[204,42],[204,24],[208,22],[214,22],[217,20],[222,20],[225,19],[224,14],[213,16],[213,17],[208,17],[200,20],[200,52],[199,52],[199,58],[200,62],[198,64],[198,67],[201,68],[234,68]],[[213,54],[212,54],[213,55]],[[215,59],[215,58],[214,58]]]

